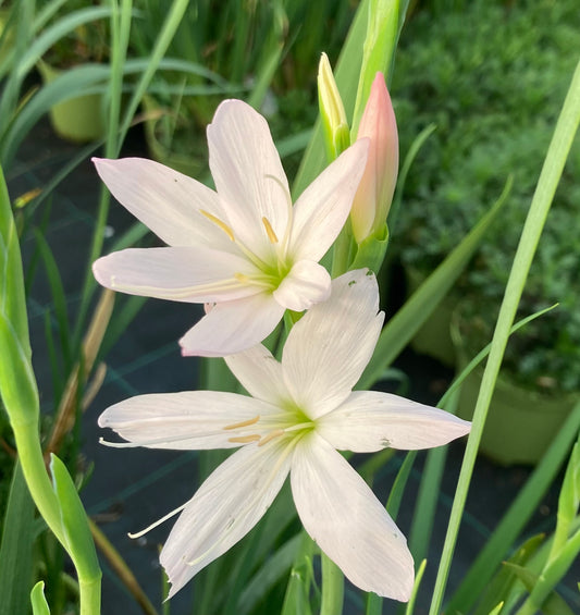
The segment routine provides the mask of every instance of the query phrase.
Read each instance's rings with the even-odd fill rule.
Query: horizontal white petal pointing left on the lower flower
[[[187,391],[138,395],[120,402],[99,417],[99,426],[114,430],[134,446],[194,451],[231,448],[231,438],[264,435],[257,421],[232,426],[277,413],[259,399],[235,393]],[[229,429],[226,429],[229,428]]]

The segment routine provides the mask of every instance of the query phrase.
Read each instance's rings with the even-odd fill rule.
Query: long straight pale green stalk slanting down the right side
[[[530,211],[526,219],[518,249],[514,258],[514,266],[507,282],[504,300],[502,303],[494,332],[490,358],[483,373],[483,381],[478,402],[476,404],[471,433],[467,443],[464,463],[461,465],[449,525],[447,527],[447,533],[443,546],[443,554],[437,570],[435,588],[433,590],[431,608],[429,611],[430,615],[437,615],[441,613],[443,594],[447,583],[453,552],[457,541],[457,534],[467,500],[471,475],[473,472],[473,466],[476,464],[476,456],[481,434],[483,432],[483,427],[485,425],[485,418],[493,394],[495,380],[497,379],[504,350],[507,344],[509,329],[514,322],[514,317],[526,284],[533,255],[540,241],[540,235],[544,227],[550,206],[552,205],[554,193],[556,192],[556,187],[579,123],[580,62],[577,65],[572,83],[556,124],[552,143],[550,144],[547,156],[540,174],[540,180],[532,198]]]

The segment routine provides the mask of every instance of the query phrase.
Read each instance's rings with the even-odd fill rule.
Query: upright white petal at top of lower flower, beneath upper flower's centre
[[[350,394],[372,356],[383,313],[374,274],[349,271],[332,281],[331,297],[292,329],[282,356],[288,391],[316,419]]]

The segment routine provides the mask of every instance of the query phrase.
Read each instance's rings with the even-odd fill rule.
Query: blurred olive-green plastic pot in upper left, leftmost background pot
[[[63,72],[42,60],[37,65],[45,84],[53,82]],[[103,104],[103,94],[88,94],[63,100],[50,109],[52,128],[59,136],[73,143],[100,139],[106,131]]]

